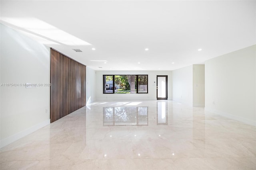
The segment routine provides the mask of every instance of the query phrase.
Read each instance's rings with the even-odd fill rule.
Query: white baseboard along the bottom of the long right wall
[[[223,111],[218,111],[218,110],[214,110],[214,109],[209,109],[207,107],[204,107],[204,110],[205,111],[209,111],[211,113],[215,113],[217,115],[222,115],[224,117],[228,117],[230,119],[234,119],[234,120],[237,120],[237,121],[240,121],[242,123],[246,123],[248,125],[253,125],[253,126],[256,126],[256,121],[253,121],[253,120],[250,120],[250,119],[246,119],[244,117],[240,117],[240,116],[236,116],[236,115],[232,115],[230,113],[225,113]]]

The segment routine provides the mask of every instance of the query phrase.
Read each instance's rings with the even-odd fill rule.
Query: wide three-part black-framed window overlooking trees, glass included
[[[103,75],[103,93],[148,93],[148,75]]]

